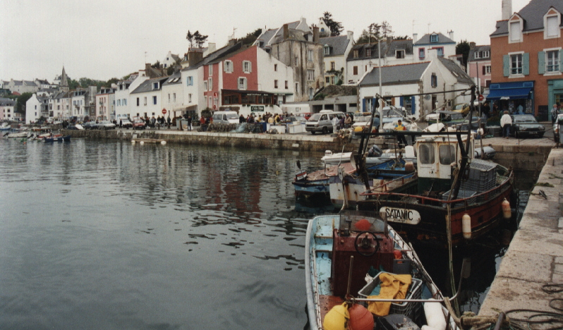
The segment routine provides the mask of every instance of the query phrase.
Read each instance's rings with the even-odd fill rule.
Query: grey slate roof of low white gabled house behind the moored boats
[[[382,85],[394,84],[397,82],[414,82],[419,81],[430,62],[421,62],[413,64],[401,64],[398,66],[384,66],[381,71]],[[379,85],[379,68],[373,68],[364,76],[360,86]]]

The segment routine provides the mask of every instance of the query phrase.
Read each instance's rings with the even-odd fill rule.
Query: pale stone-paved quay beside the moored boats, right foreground
[[[540,190],[545,193],[547,199]],[[559,197],[559,194],[562,194],[562,197]],[[547,157],[538,184],[533,188],[528,200],[519,229],[502,259],[479,315],[496,315],[498,310],[516,309],[561,314],[550,307],[550,301],[563,298],[563,293],[549,294],[542,290],[546,284],[563,284],[561,203],[563,149],[559,147],[553,148]],[[521,318],[523,314],[510,313],[509,317]],[[531,329],[550,329],[553,325],[534,324]]]

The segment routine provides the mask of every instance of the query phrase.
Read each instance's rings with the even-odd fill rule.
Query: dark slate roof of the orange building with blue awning
[[[543,29],[543,16],[553,7],[563,13],[563,1],[561,0],[531,0],[524,8],[522,8],[518,15],[523,19],[522,32]],[[563,20],[561,25],[563,26]],[[497,35],[508,34],[508,20],[497,21],[497,30],[492,32],[491,37]]]

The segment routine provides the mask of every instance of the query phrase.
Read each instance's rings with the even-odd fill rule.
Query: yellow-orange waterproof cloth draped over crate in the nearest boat
[[[380,274],[381,290],[379,295],[370,295],[370,299],[404,299],[411,285],[411,275]],[[369,302],[368,310],[373,314],[383,317],[389,315],[391,302]]]

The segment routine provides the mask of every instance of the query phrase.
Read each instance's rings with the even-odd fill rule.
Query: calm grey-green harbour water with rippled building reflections
[[[296,202],[298,159],[320,168],[276,149],[0,140],[0,329],[306,329],[305,230],[334,209]],[[506,248],[493,238],[460,252],[465,310]]]

